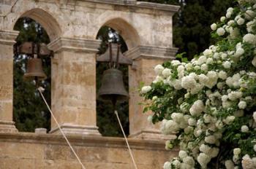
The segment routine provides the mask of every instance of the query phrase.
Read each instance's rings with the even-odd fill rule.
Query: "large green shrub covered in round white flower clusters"
[[[176,139],[164,168],[256,168],[256,1],[238,1],[211,25],[212,45],[190,62],[157,65],[141,88],[144,111]]]

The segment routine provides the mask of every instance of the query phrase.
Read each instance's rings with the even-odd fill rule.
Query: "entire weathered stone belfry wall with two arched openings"
[[[51,108],[87,169],[132,167],[122,138],[100,137],[96,123],[96,40],[108,25],[128,46],[129,142],[140,169],[162,168],[176,152],[167,152],[159,128],[146,121],[138,95],[153,67],[172,59],[172,16],[178,7],[136,0],[4,0],[0,1],[0,169],[80,168],[56,123],[52,134],[18,133],[12,122],[12,45],[20,17],[31,17],[50,36],[52,58]],[[150,113],[150,112],[149,112]],[[136,139],[135,139],[136,138]]]

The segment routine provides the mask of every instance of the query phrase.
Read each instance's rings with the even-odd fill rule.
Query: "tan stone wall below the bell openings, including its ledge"
[[[87,169],[132,169],[132,159],[123,138],[69,136]],[[138,169],[158,169],[176,154],[167,152],[163,141],[129,138]],[[1,169],[81,168],[61,135],[0,133]]]

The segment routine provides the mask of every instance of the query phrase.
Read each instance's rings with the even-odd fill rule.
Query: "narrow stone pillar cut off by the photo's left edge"
[[[17,132],[12,121],[13,44],[18,31],[0,31],[0,133]]]

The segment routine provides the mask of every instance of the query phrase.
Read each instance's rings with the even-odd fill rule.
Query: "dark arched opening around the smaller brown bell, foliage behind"
[[[15,31],[20,31],[16,42],[45,43],[50,42],[50,37],[45,29],[30,17],[20,17],[14,26]],[[37,93],[34,81],[23,79],[26,72],[26,63],[29,55],[14,55],[13,62],[13,121],[19,131],[34,132],[35,128],[44,127],[50,130],[50,113]],[[40,85],[45,88],[45,98],[50,103],[50,57],[41,57],[43,71],[47,79]]]

